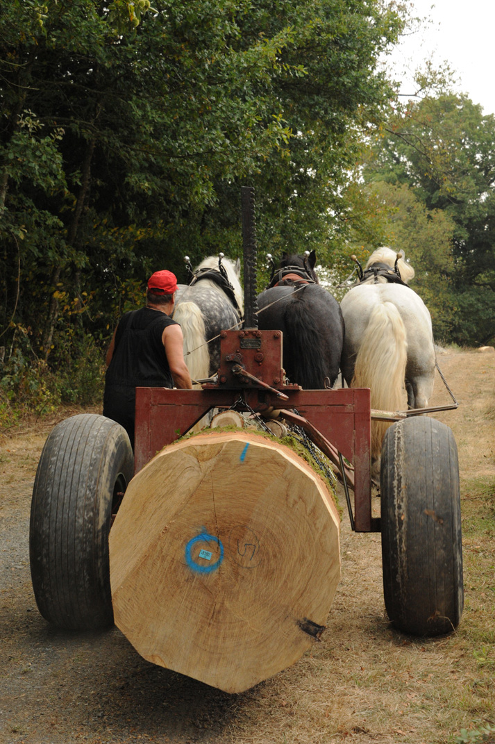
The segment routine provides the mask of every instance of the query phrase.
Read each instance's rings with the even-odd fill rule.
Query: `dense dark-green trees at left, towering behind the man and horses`
[[[0,13],[10,353],[22,338],[56,365],[74,339],[107,336],[156,266],[181,275],[185,252],[238,250],[245,183],[262,248],[331,254],[340,188],[390,94],[377,59],[401,29],[393,4],[25,0]]]

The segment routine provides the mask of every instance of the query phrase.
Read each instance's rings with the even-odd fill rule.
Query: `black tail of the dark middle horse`
[[[284,362],[291,382],[305,390],[325,388],[329,372],[320,353],[321,319],[308,309],[305,289],[294,294],[288,302],[283,320],[288,335],[283,344]]]

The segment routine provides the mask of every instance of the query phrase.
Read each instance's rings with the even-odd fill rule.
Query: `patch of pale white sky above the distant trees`
[[[483,113],[495,114],[495,0],[412,0],[412,15],[427,17],[416,33],[405,36],[386,65],[403,80],[401,93],[413,94],[414,86],[402,74],[432,57],[436,66],[450,63],[459,79],[457,90]],[[411,78],[409,78],[411,80]]]

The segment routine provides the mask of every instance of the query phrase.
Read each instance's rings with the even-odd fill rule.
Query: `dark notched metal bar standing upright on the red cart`
[[[256,302],[256,218],[254,188],[241,187],[242,246],[244,250],[244,327],[257,328]]]

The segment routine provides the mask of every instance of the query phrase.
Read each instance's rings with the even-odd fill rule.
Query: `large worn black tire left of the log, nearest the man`
[[[112,519],[134,457],[120,424],[80,414],[57,424],[39,459],[30,516],[30,568],[39,612],[59,628],[113,623]]]

